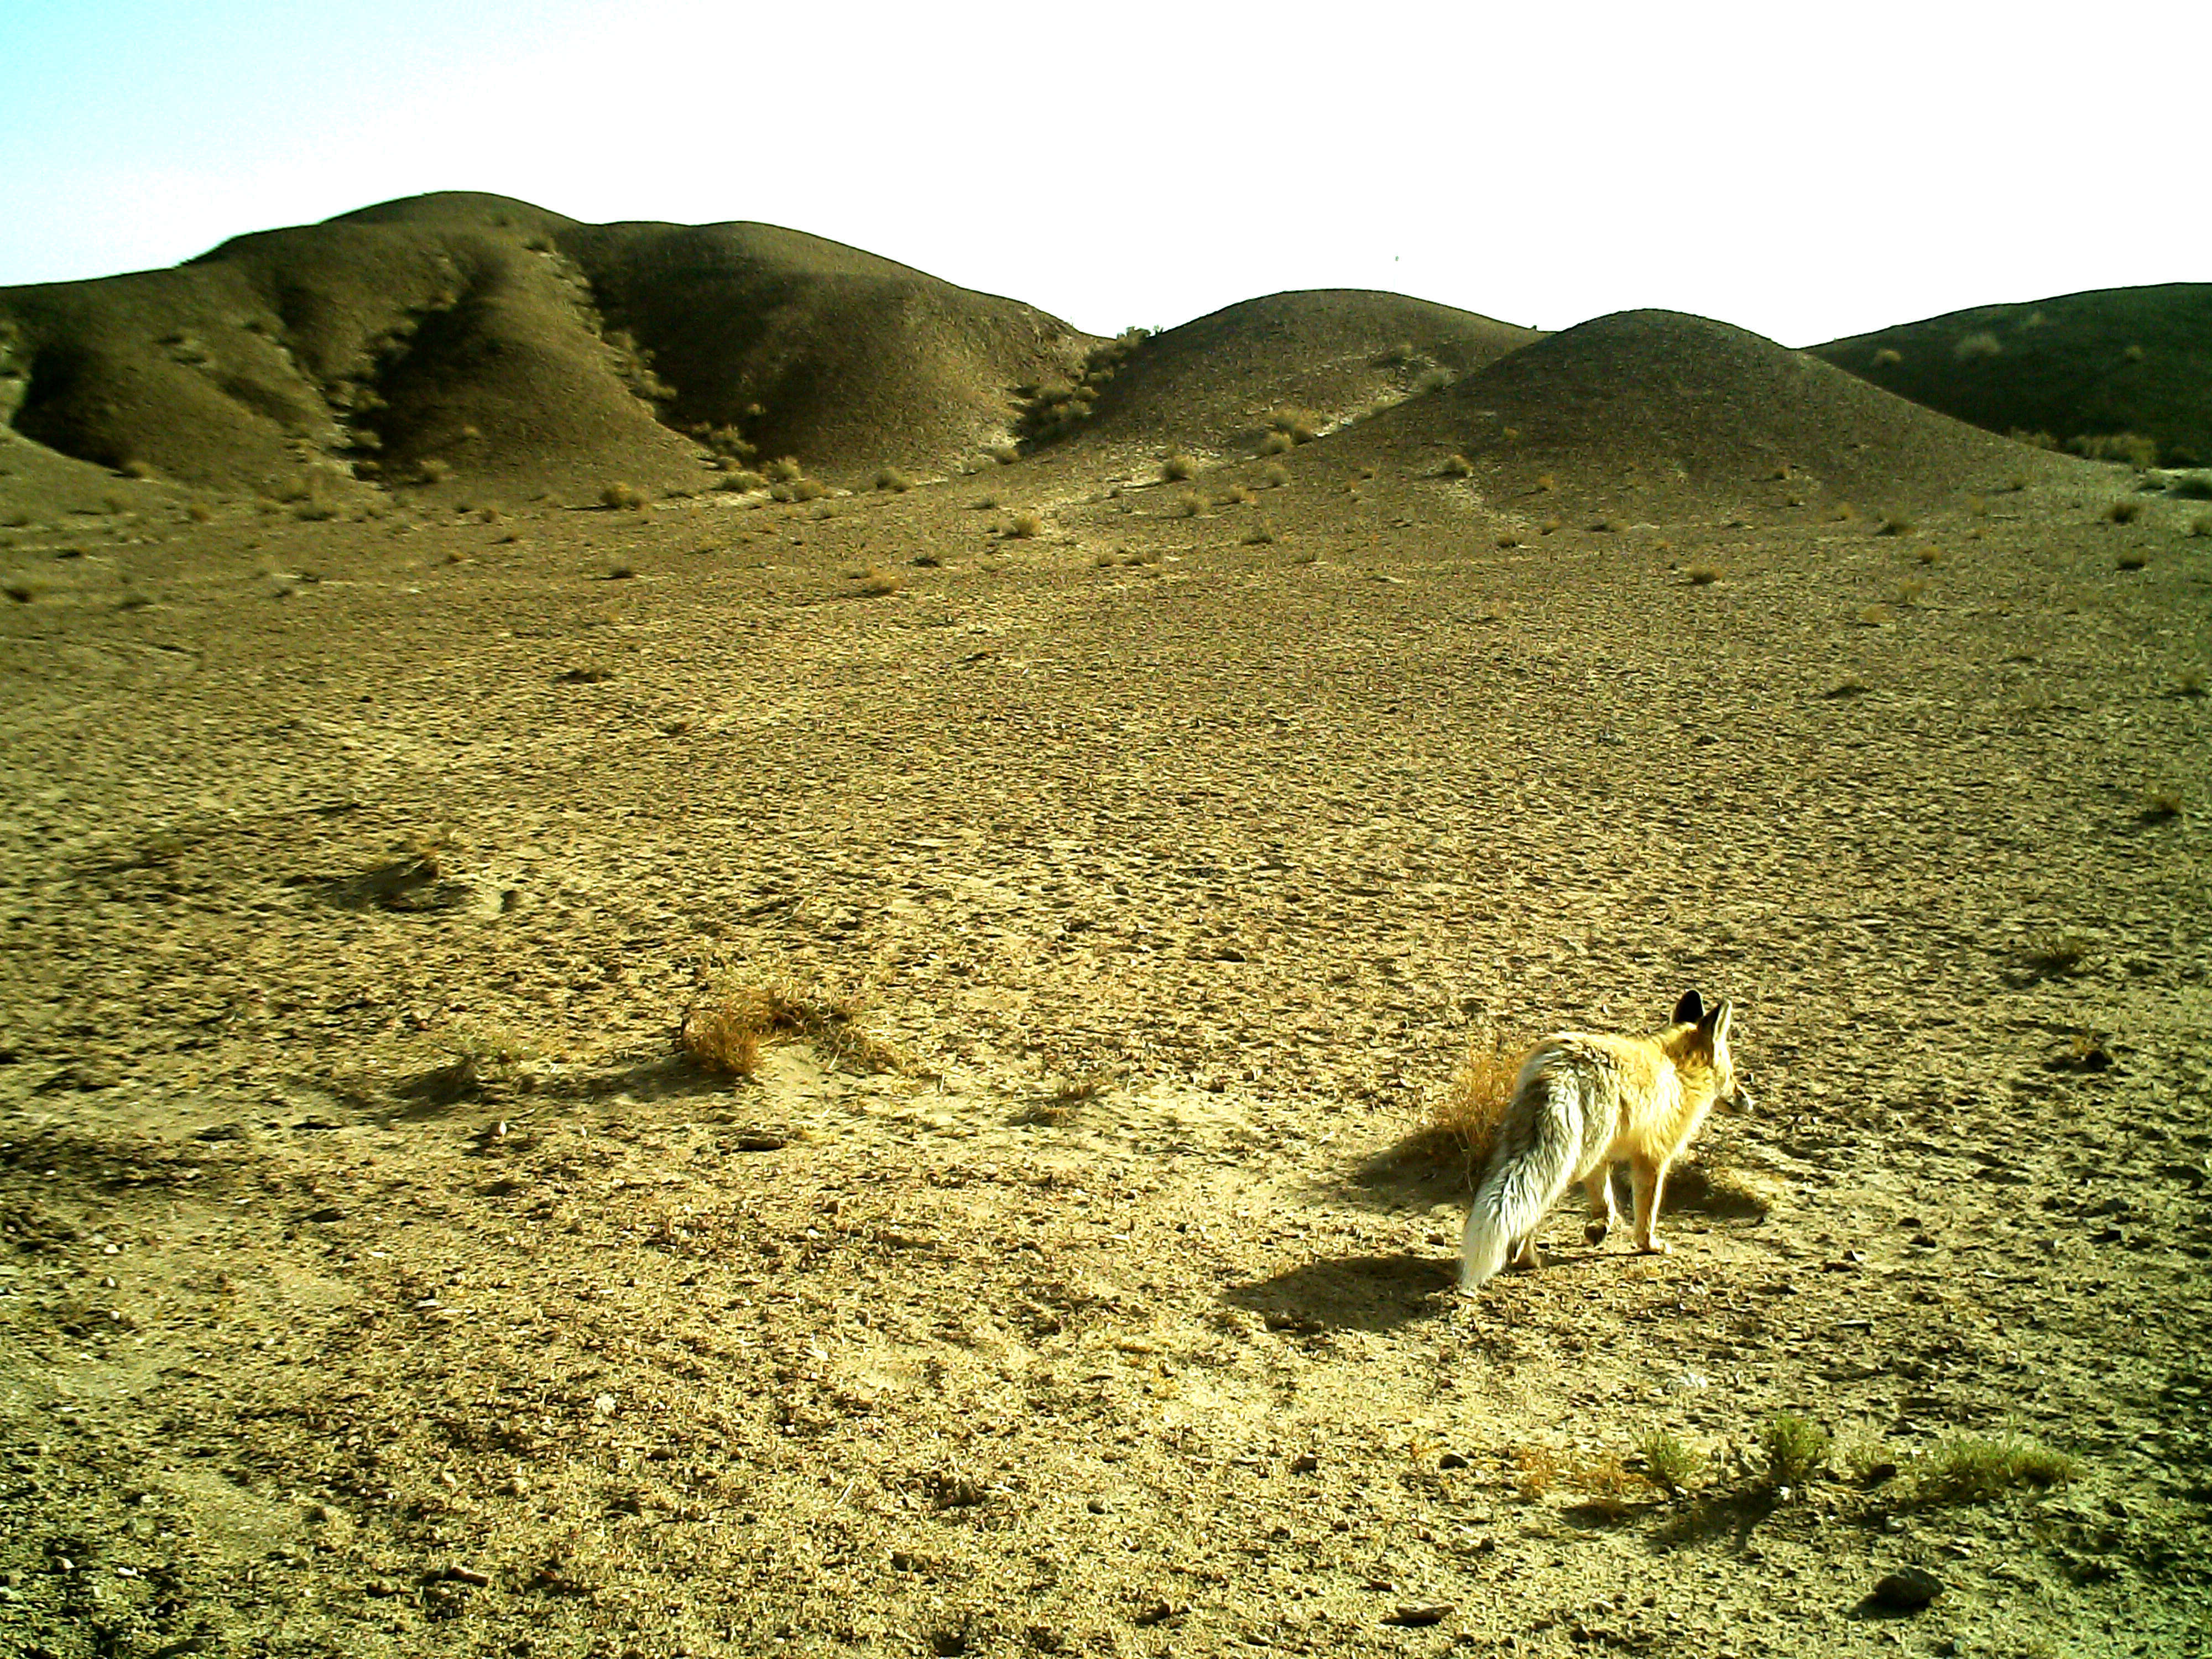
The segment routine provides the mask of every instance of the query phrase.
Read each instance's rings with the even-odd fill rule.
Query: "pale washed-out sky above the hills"
[[[0,0],[0,285],[425,190],[1093,332],[1285,288],[1785,345],[2212,281],[2212,4]]]

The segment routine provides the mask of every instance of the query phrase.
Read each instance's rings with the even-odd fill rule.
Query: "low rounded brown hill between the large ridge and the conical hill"
[[[1250,449],[1298,411],[1327,429],[1531,341],[1528,327],[1405,294],[1323,288],[1228,305],[1093,354],[1079,387],[1046,389],[1031,429],[1046,442]],[[1084,409],[1088,407],[1088,418]],[[1073,418],[1071,418],[1073,416]]]

